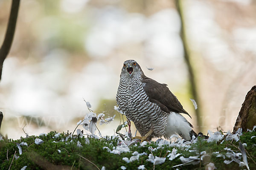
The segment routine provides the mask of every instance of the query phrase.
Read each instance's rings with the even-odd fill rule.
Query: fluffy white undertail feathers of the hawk
[[[171,137],[173,134],[182,135],[182,137],[189,141],[190,131],[192,128],[187,122],[186,118],[184,118],[180,113],[171,112],[169,116],[167,116],[167,126],[166,126],[166,138]]]

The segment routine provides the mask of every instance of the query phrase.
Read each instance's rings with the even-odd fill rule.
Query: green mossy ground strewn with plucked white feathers
[[[121,166],[125,166],[127,170],[136,170],[140,165],[145,165],[147,170],[153,169],[153,164],[149,161],[148,156],[140,156],[139,161],[133,161],[131,163],[126,163],[122,160],[123,157],[130,158],[133,152],[129,153],[121,153],[113,154],[109,153],[107,149],[103,149],[103,147],[107,146],[112,149],[113,146],[117,145],[118,140],[116,138],[107,137],[106,139],[94,139],[90,138],[90,144],[86,144],[86,137],[77,137],[73,136],[73,142],[70,142],[70,138],[64,142],[61,142],[62,139],[65,139],[68,134],[61,133],[57,138],[54,137],[56,132],[50,132],[47,136],[29,136],[28,138],[21,138],[19,140],[8,140],[8,141],[0,141],[0,169],[8,170],[12,159],[14,157],[15,151],[16,155],[20,156],[18,159],[13,160],[11,165],[11,170],[20,170],[23,166],[27,166],[26,170],[42,170],[42,169],[73,169],[73,170],[94,170],[99,167],[105,166],[106,170],[116,170],[120,169]],[[256,132],[247,132],[240,136],[241,143],[247,143],[247,160],[249,163],[249,167],[251,170],[256,169],[256,138],[252,138],[251,136],[256,136]],[[35,144],[35,139],[39,138],[44,141],[44,143],[37,145]],[[58,143],[53,143],[56,141]],[[82,147],[77,146],[77,141],[81,142]],[[28,146],[21,146],[23,153],[20,155],[19,150],[17,148],[16,143],[26,142]],[[113,145],[112,145],[113,144]],[[130,147],[131,151],[138,151],[139,153],[147,153],[148,155],[151,153],[148,150],[148,147],[151,146],[153,148],[157,147],[156,142],[151,142],[151,144],[145,145],[145,147],[137,146]],[[226,169],[245,169],[245,167],[239,167],[239,164],[236,162],[232,162],[230,164],[224,164],[224,160],[222,157],[216,157],[212,155],[212,152],[220,152],[226,153],[224,150],[225,147],[231,148],[234,152],[240,152],[239,150],[239,142],[235,141],[224,141],[220,142],[211,142],[208,143],[202,139],[198,140],[197,143],[192,144],[192,150],[197,150],[198,152],[206,151],[209,156],[207,159],[203,159],[200,164],[197,165],[187,165],[177,167],[178,169],[197,169],[204,170],[206,164],[212,162],[215,164],[218,170],[226,170]],[[8,150],[8,154],[7,154]],[[58,152],[61,150],[61,153]],[[164,149],[158,149],[154,151],[154,156],[164,157],[166,156],[166,161],[163,164],[155,165],[155,170],[168,170],[168,169],[176,169],[172,168],[177,164],[182,164],[179,157],[169,161],[167,158],[168,153],[167,150],[172,151],[172,147],[165,146]],[[181,150],[177,148],[177,153],[182,153],[182,156],[196,156],[195,152],[189,152],[186,150]],[[249,156],[250,155],[250,156]],[[84,158],[82,158],[82,157]],[[86,160],[87,159],[87,160]],[[227,159],[227,158],[226,158]],[[89,161],[96,164],[94,166]],[[254,161],[253,161],[254,160]]]

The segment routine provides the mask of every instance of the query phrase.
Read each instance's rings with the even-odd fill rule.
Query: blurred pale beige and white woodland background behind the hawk
[[[0,44],[10,7],[10,0],[0,0]],[[183,0],[180,8],[200,114],[190,101],[175,0],[21,0],[0,82],[1,133],[18,139],[25,136],[24,125],[29,135],[73,132],[89,112],[85,99],[95,112],[116,114],[111,125],[98,125],[102,135],[113,135],[120,123],[113,106],[127,59],[168,84],[196,132],[232,130],[256,85],[256,1]]]

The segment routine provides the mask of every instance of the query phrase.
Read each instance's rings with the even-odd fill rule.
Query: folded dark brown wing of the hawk
[[[170,113],[171,111],[176,113],[185,113],[189,115],[180,104],[177,97],[172,94],[166,84],[161,84],[151,78],[142,76],[142,82],[145,83],[144,91],[149,97],[149,101],[156,103],[163,111]],[[191,118],[191,116],[189,115]]]

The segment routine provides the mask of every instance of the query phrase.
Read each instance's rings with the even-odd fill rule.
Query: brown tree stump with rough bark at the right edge
[[[236,124],[233,128],[235,133],[238,128],[242,128],[243,131],[247,129],[252,130],[256,125],[256,85],[245,96],[245,100],[242,104],[239,115],[236,119]]]

